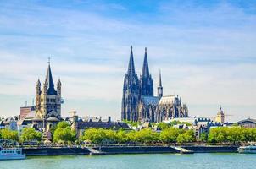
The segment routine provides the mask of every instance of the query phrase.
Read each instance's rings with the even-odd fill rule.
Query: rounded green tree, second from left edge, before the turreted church
[[[33,141],[33,140],[41,141],[41,139],[42,139],[42,133],[37,132],[35,128],[24,128],[20,136],[21,142]]]

